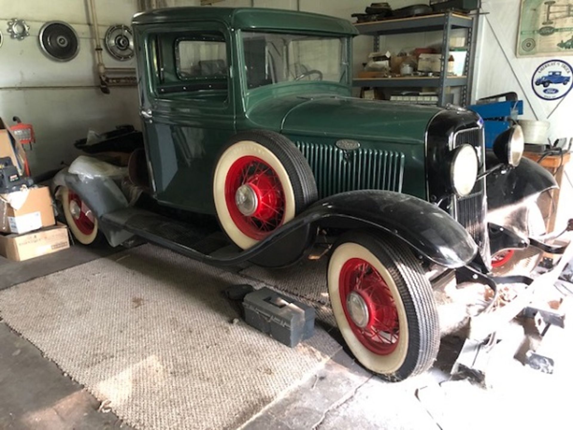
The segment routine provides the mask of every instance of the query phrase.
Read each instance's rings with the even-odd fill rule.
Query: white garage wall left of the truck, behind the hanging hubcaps
[[[136,0],[97,0],[100,34],[112,24],[129,24],[137,11]],[[30,26],[22,41],[6,37],[7,21],[17,17]],[[80,38],[80,52],[69,62],[50,60],[40,50],[38,33],[46,21],[58,19],[72,25]],[[111,95],[96,87],[88,5],[84,0],[3,1],[0,29],[5,36],[0,48],[0,116],[12,123],[14,115],[32,123],[37,144],[28,153],[33,174],[70,162],[77,152],[74,140],[88,128],[105,131],[116,124],[139,124],[135,87],[112,88]],[[107,67],[134,67],[134,62],[113,60],[104,50]]]

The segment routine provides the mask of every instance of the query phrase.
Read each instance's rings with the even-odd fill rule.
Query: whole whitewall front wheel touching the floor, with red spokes
[[[431,367],[438,312],[430,282],[401,241],[344,234],[329,261],[328,292],[340,332],[365,368],[395,382]]]

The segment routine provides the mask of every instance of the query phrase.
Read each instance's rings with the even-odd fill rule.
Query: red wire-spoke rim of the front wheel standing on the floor
[[[398,346],[398,309],[383,277],[370,263],[353,258],[340,270],[340,301],[356,338],[378,355]]]

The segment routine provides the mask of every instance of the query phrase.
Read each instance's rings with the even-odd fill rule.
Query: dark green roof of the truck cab
[[[260,7],[170,7],[138,13],[134,15],[132,24],[205,21],[206,19],[224,22],[234,29],[292,30],[351,36],[358,34],[358,30],[346,19],[295,10]]]

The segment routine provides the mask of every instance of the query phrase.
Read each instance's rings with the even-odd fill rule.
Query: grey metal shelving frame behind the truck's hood
[[[380,36],[406,33],[424,33],[442,31],[442,61],[440,73],[436,77],[409,76],[409,77],[381,77],[381,78],[355,78],[352,80],[354,87],[379,87],[379,88],[438,88],[438,105],[444,105],[446,89],[449,87],[461,87],[461,105],[468,104],[469,86],[472,82],[473,68],[473,31],[474,17],[457,13],[438,13],[421,15],[411,18],[386,19],[384,21],[360,22],[355,24],[360,34],[374,37],[374,52],[380,49]],[[465,75],[448,76],[448,58],[450,52],[450,35],[452,30],[466,29],[467,38],[465,48],[468,54],[465,58]]]

